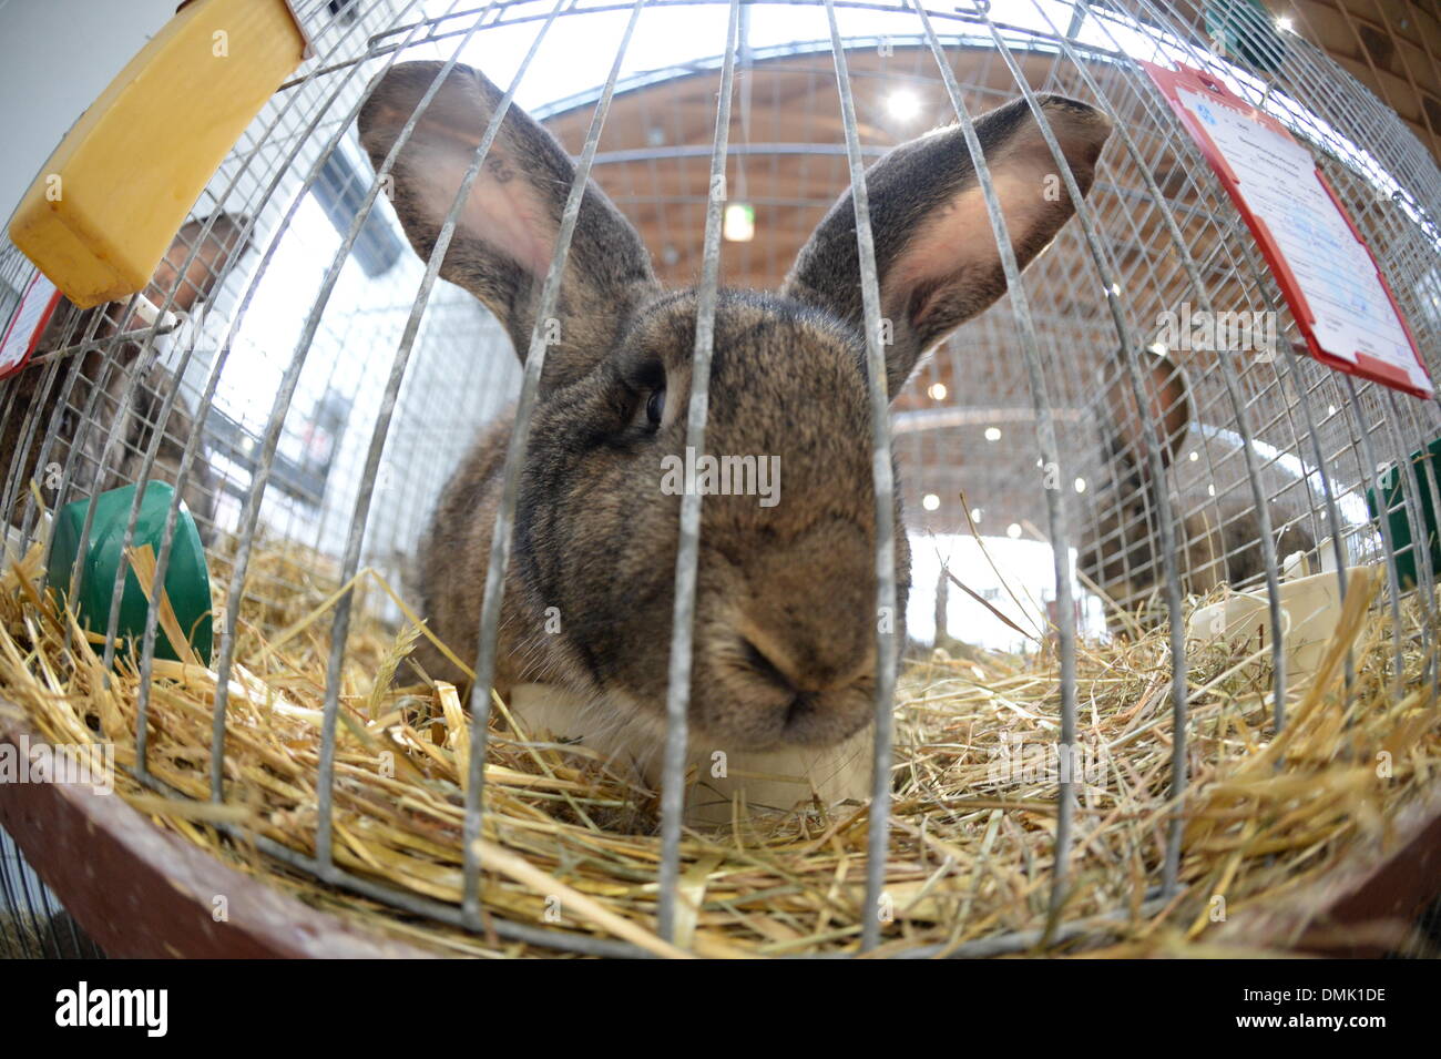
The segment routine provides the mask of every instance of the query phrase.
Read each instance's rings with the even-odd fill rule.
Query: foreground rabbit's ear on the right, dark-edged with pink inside
[[[1082,195],[1111,133],[1094,107],[1058,95],[1038,98]],[[1075,213],[1025,99],[976,121],[1006,231],[1025,268]],[[1049,177],[1049,179],[1048,179]],[[931,346],[1006,292],[996,238],[960,125],[886,154],[866,173],[870,228],[880,280],[880,314],[892,395]],[[855,203],[846,192],[801,249],[782,294],[863,326]]]

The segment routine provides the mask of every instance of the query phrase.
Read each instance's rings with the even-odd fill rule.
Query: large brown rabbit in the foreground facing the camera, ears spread
[[[437,62],[380,75],[359,115],[379,170]],[[392,170],[392,205],[428,259],[501,92],[455,65]],[[1111,125],[1098,110],[1039,97],[1082,193]],[[1046,195],[1056,169],[1025,101],[976,121],[1020,267],[1075,212]],[[510,107],[470,189],[441,277],[494,313],[525,360],[575,169],[561,144]],[[886,388],[1006,291],[958,125],[889,151],[866,174]],[[663,743],[680,496],[661,488],[682,458],[697,294],[666,291],[635,229],[595,183],[579,206],[519,477],[494,687],[556,690],[552,732],[571,723],[647,777]],[[844,193],[775,294],[722,290],[715,311],[706,445],[780,458],[780,503],[706,496],[695,614],[689,730],[715,752],[801,759],[869,739],[876,684],[876,526],[872,426],[855,210]],[[513,411],[488,425],[444,488],[418,556],[415,591],[431,630],[467,664],[500,504]],[[896,524],[901,522],[896,490]],[[904,633],[909,548],[896,533]],[[896,645],[905,637],[896,637]],[[432,677],[464,683],[440,651]],[[522,694],[520,697],[525,697]],[[561,720],[555,720],[559,716]],[[569,719],[569,722],[566,722]],[[556,732],[565,733],[565,732]],[[758,756],[757,756],[758,755]],[[869,749],[853,771],[869,794]],[[804,767],[800,765],[800,767]],[[751,771],[767,771],[752,768]],[[788,807],[788,805],[787,805]]]

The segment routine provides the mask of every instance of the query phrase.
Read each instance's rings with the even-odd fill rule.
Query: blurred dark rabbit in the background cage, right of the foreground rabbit
[[[1157,553],[1153,506],[1151,447],[1161,431],[1161,467],[1170,468],[1180,455],[1192,422],[1190,386],[1185,369],[1169,356],[1146,353],[1143,396],[1147,415],[1140,415],[1128,377],[1123,373],[1107,390],[1102,411],[1102,451],[1108,473],[1095,493],[1095,519],[1081,540],[1082,573],[1114,602],[1127,607],[1159,589],[1164,579]],[[1280,523],[1280,519],[1274,519]],[[1278,526],[1275,555],[1280,562],[1294,552],[1310,553],[1316,540],[1298,523]],[[1242,501],[1197,504],[1185,511],[1177,540],[1182,588],[1206,595],[1221,584],[1241,585],[1265,572],[1261,549],[1261,520]],[[1112,631],[1120,630],[1110,614]]]

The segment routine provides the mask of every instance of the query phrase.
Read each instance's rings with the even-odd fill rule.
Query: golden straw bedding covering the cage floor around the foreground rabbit
[[[223,592],[225,558],[216,565],[213,582]],[[241,824],[313,852],[329,612],[342,595],[333,566],[294,546],[256,545],[231,677],[223,808],[157,797],[135,782],[127,771],[138,687],[133,660],[121,660],[107,689],[91,651],[66,650],[68,622],[73,643],[84,634],[42,599],[39,578],[36,549],[0,579],[0,696],[50,742],[112,742],[117,788],[159,826],[316,906],[409,941],[454,954],[550,954],[396,913],[228,837],[223,826]],[[419,630],[396,633],[375,617],[367,604],[389,594],[380,578],[366,572],[349,588],[362,598],[340,687],[336,863],[458,903],[468,715],[455,689],[421,683],[405,664]],[[1265,651],[1218,644],[1192,656],[1182,886],[1160,902],[1147,899],[1174,813],[1167,634],[1081,644],[1085,782],[1063,919],[1091,926],[1072,928],[1066,949],[1208,951],[1213,898],[1233,916],[1287,896],[1349,852],[1380,841],[1398,807],[1434,784],[1441,726],[1424,680],[1425,615],[1406,601],[1398,680],[1389,669],[1396,634],[1389,609],[1368,607],[1365,596],[1350,595],[1327,667],[1290,705],[1280,738],[1270,723]],[[902,673],[886,864],[893,922],[880,955],[1046,935],[1058,785],[1055,759],[1042,755],[1059,728],[1056,663],[1046,651],[967,654],[937,653]],[[150,772],[203,803],[216,676],[159,660],[154,676]],[[494,702],[481,839],[486,912],[673,954],[654,935],[657,794],[585,751],[527,742]],[[738,805],[732,827],[687,831],[679,945],[702,955],[855,951],[866,818],[857,804],[785,817],[752,817]]]

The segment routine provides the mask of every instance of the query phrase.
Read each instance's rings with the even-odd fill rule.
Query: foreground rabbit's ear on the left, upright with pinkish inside
[[[440,75],[440,62],[408,62],[372,86],[360,111],[360,143],[379,169],[401,128]],[[395,212],[411,245],[429,258],[441,225],[484,138],[503,92],[477,71],[454,66],[393,163]],[[525,359],[536,300],[575,180],[565,150],[512,105],[470,187],[441,275],[494,313]],[[640,236],[595,183],[588,183],[561,285],[558,341],[546,354],[548,385],[579,377],[611,347],[627,308],[657,287]]]

